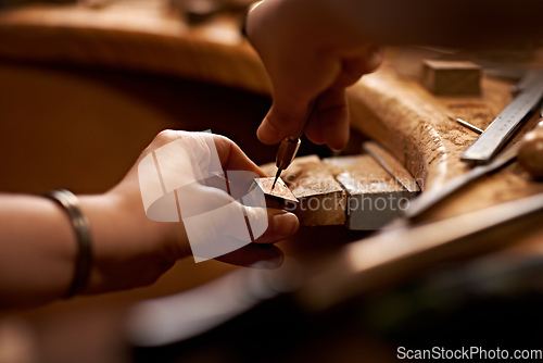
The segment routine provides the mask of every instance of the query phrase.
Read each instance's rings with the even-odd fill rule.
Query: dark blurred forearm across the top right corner
[[[289,0],[286,0],[289,1]],[[294,0],[295,1],[295,0]],[[311,7],[312,0],[301,0]],[[485,47],[543,37],[539,0],[316,0],[361,40]]]

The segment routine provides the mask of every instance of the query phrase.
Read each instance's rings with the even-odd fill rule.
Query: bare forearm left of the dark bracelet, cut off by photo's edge
[[[2,195],[0,226],[0,304],[62,297],[76,255],[63,211],[46,198]]]

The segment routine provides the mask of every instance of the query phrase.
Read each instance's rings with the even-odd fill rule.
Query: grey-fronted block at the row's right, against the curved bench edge
[[[369,154],[323,160],[348,193],[346,227],[375,230],[401,215],[413,196]]]

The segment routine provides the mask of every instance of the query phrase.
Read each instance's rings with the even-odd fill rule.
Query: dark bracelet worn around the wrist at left
[[[74,279],[65,296],[67,299],[85,290],[89,280],[92,267],[92,241],[90,238],[89,221],[79,208],[79,199],[72,191],[66,189],[53,190],[46,197],[58,202],[66,211],[76,236],[77,256]]]

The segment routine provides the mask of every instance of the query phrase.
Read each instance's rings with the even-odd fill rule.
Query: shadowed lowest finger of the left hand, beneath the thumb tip
[[[258,266],[261,268],[278,268],[285,255],[274,245],[250,243],[236,251],[223,254],[215,260],[237,266]]]

